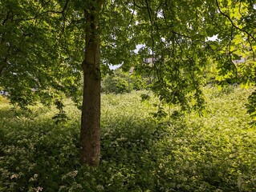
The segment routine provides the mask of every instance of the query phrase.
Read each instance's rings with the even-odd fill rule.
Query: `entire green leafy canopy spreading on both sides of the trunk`
[[[83,10],[94,2],[0,2],[0,86],[12,102],[59,101],[62,93],[79,102]],[[162,102],[201,110],[204,69],[213,63],[217,81],[254,84],[255,11],[250,0],[106,0],[100,12],[102,72],[110,65],[135,66],[149,74]],[[240,56],[248,61],[234,64]]]

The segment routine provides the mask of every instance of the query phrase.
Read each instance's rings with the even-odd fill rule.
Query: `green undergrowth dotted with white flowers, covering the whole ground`
[[[0,100],[0,191],[255,191],[256,130],[246,114],[251,90],[205,87],[208,114],[152,118],[140,94],[102,96],[99,167],[79,165],[80,112],[65,123],[44,106]]]

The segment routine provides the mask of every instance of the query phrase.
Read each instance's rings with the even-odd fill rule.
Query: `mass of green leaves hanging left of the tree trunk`
[[[26,106],[78,90],[83,38],[77,42],[68,2],[2,2],[0,83],[12,102]]]

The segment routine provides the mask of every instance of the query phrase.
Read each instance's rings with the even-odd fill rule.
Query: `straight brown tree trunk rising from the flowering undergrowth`
[[[83,106],[80,132],[80,162],[100,163],[100,2],[91,1],[86,18],[83,67]]]

